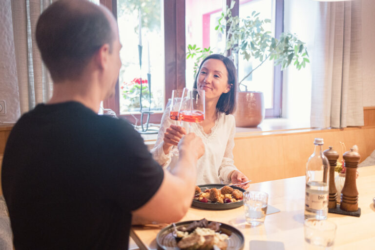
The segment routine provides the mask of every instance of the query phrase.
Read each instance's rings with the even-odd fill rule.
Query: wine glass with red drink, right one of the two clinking
[[[201,123],[205,120],[205,91],[184,88],[182,96],[178,118],[188,122],[190,130],[191,123]]]

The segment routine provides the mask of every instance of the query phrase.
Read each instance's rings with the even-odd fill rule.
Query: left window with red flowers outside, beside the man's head
[[[134,84],[139,84],[138,78],[148,80],[149,51],[151,111],[154,112],[150,122],[160,123],[172,90],[185,86],[185,36],[179,37],[185,26],[185,5],[181,4],[183,1],[175,0],[100,0],[100,3],[108,7],[117,18],[120,42],[123,44],[120,52],[123,66],[116,93],[104,101],[104,107],[111,108],[118,116],[132,123],[138,121],[139,125],[139,95],[138,98],[135,94],[130,97],[135,103],[132,105],[129,98],[124,98],[124,94],[126,96],[135,90]],[[138,59],[139,10],[142,16],[142,69]],[[143,88],[143,94],[148,95],[148,81]],[[142,104],[143,110],[148,110],[148,96],[142,99]]]

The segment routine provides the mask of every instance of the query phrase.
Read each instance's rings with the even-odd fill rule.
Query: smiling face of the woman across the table
[[[218,59],[205,61],[198,73],[197,88],[205,90],[206,100],[219,100],[221,94],[228,93],[228,70]]]

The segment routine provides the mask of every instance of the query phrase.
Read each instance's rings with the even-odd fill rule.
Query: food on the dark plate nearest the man
[[[177,235],[181,235],[181,239],[177,247],[182,250],[212,250],[215,246],[220,250],[226,250],[229,236],[219,231],[220,223],[208,223],[206,219],[178,227]]]

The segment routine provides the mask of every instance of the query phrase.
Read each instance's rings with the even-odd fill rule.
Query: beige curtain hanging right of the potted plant
[[[363,126],[361,1],[326,2],[319,8],[311,126]]]

